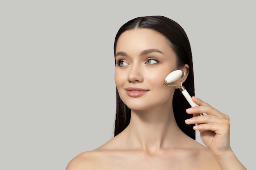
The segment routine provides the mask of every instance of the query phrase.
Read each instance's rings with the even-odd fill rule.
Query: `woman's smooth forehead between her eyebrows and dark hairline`
[[[164,53],[172,51],[164,35],[152,29],[132,29],[122,33],[117,41],[116,51],[159,49]]]

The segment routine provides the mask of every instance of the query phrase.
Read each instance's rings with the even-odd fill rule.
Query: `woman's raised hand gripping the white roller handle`
[[[197,124],[194,130],[200,131],[203,143],[211,150],[215,157],[222,157],[232,152],[230,147],[229,117],[213,108],[202,100],[192,97],[193,102],[199,106],[188,108],[188,114],[206,113],[204,116],[194,116],[187,119],[186,124]]]

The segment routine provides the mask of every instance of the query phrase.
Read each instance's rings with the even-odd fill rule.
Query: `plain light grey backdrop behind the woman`
[[[253,1],[16,0],[0,2],[1,170],[64,170],[112,138],[114,37],[145,15],[185,29],[196,96],[229,115],[231,146],[255,169]]]

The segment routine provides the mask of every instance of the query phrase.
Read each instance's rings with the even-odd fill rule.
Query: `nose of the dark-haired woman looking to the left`
[[[140,66],[134,64],[130,67],[127,80],[129,83],[143,82],[143,76]]]

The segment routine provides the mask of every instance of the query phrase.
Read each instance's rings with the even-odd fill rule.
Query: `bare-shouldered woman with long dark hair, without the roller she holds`
[[[66,170],[246,170],[229,144],[229,117],[196,97],[199,106],[191,108],[177,86],[164,84],[180,69],[185,76],[173,85],[194,95],[191,47],[179,24],[163,16],[130,20],[116,35],[114,53],[115,137],[76,156]],[[195,141],[195,130],[207,147]]]

